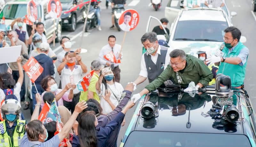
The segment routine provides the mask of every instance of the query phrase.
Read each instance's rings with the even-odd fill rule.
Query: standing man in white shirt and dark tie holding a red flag
[[[103,46],[102,49],[100,50],[99,59],[100,59],[102,65],[105,65],[105,67],[112,68],[112,70],[114,71],[114,75],[115,75],[115,81],[119,83],[120,82],[120,72],[121,72],[121,70],[119,68],[120,63],[114,63],[113,60],[111,60],[111,59],[107,60],[106,58],[104,58],[104,56],[109,53],[114,53],[116,60],[121,60],[123,58],[123,55],[121,53],[121,46],[116,44],[116,37],[114,35],[110,35],[108,37],[108,45]]]

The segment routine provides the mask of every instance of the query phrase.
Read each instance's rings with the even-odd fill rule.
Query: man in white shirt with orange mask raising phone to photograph
[[[62,89],[64,89],[68,83],[76,84],[76,82],[78,82],[83,78],[83,74],[87,72],[87,67],[82,62],[81,56],[76,55],[75,57],[72,57],[71,53],[75,53],[75,52],[73,51],[67,52],[65,54],[65,60],[57,68],[57,71],[60,74],[60,78],[61,78]],[[77,61],[79,65],[76,65],[75,61]],[[76,87],[76,89],[73,90],[73,93],[74,93],[74,97],[71,102],[63,101],[64,106],[69,110],[71,110],[71,113],[74,112],[75,106],[79,101],[81,92]]]

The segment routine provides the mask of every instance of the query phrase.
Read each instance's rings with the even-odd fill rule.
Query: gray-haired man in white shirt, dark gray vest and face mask
[[[170,61],[169,54],[171,49],[158,44],[155,32],[145,33],[141,37],[141,43],[147,52],[141,57],[140,74],[133,82],[135,87],[147,78],[149,83],[154,81],[164,71]]]

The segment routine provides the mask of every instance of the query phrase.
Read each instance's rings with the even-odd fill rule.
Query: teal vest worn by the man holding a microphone
[[[231,58],[237,57],[243,48],[246,48],[246,46],[244,46],[243,43],[241,43],[240,41],[235,46],[234,50],[232,52],[230,52],[229,54],[228,54],[228,48],[224,47],[224,49],[222,50],[222,52],[224,53],[223,57],[226,57],[226,58],[227,57],[231,57]],[[247,56],[247,58],[248,58],[248,56]],[[243,66],[229,64],[226,62],[220,62],[220,66],[219,66],[219,70],[218,70],[217,74],[221,73],[221,74],[230,76],[231,86],[238,87],[238,86],[241,86],[244,84],[246,65],[247,65],[247,60]]]

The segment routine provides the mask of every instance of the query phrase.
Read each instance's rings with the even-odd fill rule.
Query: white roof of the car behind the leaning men
[[[202,9],[190,9],[182,11],[179,21],[184,20],[213,20],[213,21],[224,21],[226,18],[220,10],[202,10]]]

